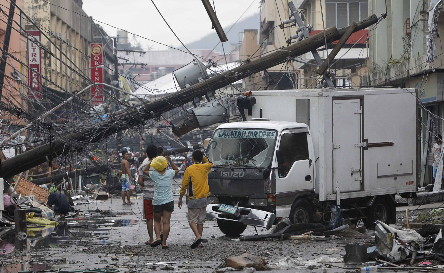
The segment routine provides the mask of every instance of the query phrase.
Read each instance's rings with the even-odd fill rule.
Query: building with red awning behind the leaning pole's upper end
[[[337,29],[347,27],[369,16],[368,0],[303,0],[301,2],[299,9],[304,11],[305,23],[313,25],[310,35],[315,35],[330,27],[337,27]],[[336,72],[337,86],[361,85],[361,77],[367,75],[368,37],[368,29],[353,33],[333,59],[330,67]],[[332,48],[336,42],[332,42],[329,48]],[[330,51],[322,50],[319,56],[325,60]],[[311,53],[300,57],[306,62],[315,63]],[[299,68],[303,69],[305,85],[309,87],[316,85],[317,67],[304,64]]]

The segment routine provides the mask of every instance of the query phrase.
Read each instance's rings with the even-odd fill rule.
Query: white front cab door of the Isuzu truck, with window
[[[307,137],[306,128],[288,129],[281,133],[278,149],[282,150],[285,162],[276,170],[276,193],[289,193],[285,196],[289,197],[290,203],[294,200],[291,198],[291,192],[314,187],[314,167],[312,159],[309,158]]]

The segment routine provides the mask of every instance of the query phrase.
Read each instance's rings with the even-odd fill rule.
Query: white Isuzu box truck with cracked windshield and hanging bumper
[[[238,107],[247,121],[220,125],[206,148],[207,218],[224,234],[328,223],[332,205],[351,223],[394,223],[395,195],[416,196],[416,89],[254,91]]]

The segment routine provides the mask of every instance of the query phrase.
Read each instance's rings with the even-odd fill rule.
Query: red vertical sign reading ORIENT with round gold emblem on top
[[[103,62],[103,46],[102,44],[91,44],[91,80],[93,82],[103,82],[103,68],[97,66]],[[98,85],[103,88],[103,85]],[[97,106],[103,103],[102,90],[91,87],[91,105]]]

